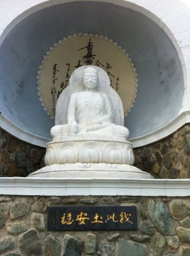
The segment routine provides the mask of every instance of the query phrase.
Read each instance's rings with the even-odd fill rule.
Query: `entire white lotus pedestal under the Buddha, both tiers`
[[[57,139],[57,138],[56,138]],[[75,134],[47,145],[47,166],[29,177],[62,179],[152,179],[133,166],[132,144],[122,136]]]

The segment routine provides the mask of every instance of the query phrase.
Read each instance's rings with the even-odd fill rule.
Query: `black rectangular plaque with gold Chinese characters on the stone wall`
[[[48,207],[48,231],[136,230],[136,206]]]

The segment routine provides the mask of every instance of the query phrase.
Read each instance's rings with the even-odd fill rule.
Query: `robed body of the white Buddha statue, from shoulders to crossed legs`
[[[101,92],[73,93],[68,106],[68,124],[52,127],[53,140],[56,136],[60,139],[60,135],[71,134],[69,125],[72,122],[77,122],[75,134],[105,134],[126,138],[129,136],[126,127],[113,124],[110,100]]]

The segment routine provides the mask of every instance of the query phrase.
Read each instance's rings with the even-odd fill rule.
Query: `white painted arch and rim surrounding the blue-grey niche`
[[[78,1],[78,0],[77,0]],[[76,0],[3,0],[0,3],[0,46],[4,38],[10,33],[21,20],[32,13],[55,4],[77,2]],[[83,0],[89,1],[89,0]],[[172,122],[164,125],[155,132],[145,136],[132,139],[133,147],[160,140],[182,125],[190,122],[190,10],[179,0],[99,0],[98,2],[113,3],[126,8],[131,8],[137,12],[154,20],[172,40],[173,45],[179,55],[184,74],[184,97],[179,114]],[[47,140],[23,131],[17,125],[12,124],[7,118],[1,115],[1,127],[21,140],[25,140],[35,145],[45,147]]]

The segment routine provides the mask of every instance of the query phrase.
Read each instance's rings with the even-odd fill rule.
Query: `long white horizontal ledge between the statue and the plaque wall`
[[[190,179],[0,178],[1,195],[190,196]]]

